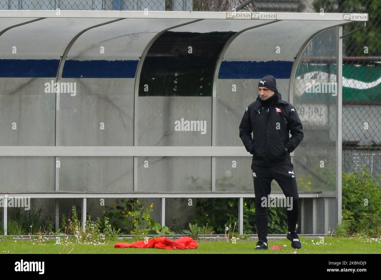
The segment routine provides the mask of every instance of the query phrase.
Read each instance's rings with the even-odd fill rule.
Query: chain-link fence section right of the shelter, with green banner
[[[381,2],[314,1],[319,12],[368,13],[343,28],[343,171],[381,174]],[[313,11],[311,10],[311,11]]]

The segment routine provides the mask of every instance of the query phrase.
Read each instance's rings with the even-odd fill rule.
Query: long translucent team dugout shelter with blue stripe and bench
[[[155,198],[162,225],[186,218],[189,199],[195,209],[198,198],[236,198],[243,234],[254,187],[238,127],[269,74],[303,122],[291,154],[299,232],[331,232],[341,221],[343,26],[367,20],[2,10],[0,196],[53,200],[56,227],[67,198],[82,201],[82,221],[90,199]],[[284,197],[275,181],[272,196]],[[0,211],[7,234],[10,209]]]

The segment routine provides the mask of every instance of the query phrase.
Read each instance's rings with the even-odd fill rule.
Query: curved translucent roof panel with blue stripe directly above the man
[[[275,78],[290,78],[294,58],[320,30],[340,21],[278,21],[246,30],[223,54],[218,78],[262,78],[263,69]]]

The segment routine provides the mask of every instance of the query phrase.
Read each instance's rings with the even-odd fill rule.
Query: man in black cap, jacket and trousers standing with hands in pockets
[[[243,114],[239,137],[246,150],[253,155],[255,192],[255,222],[258,230],[258,249],[267,249],[267,203],[262,203],[271,193],[271,182],[278,182],[286,198],[293,203],[287,210],[287,238],[291,247],[302,247],[296,223],[299,216],[299,195],[290,152],[303,140],[303,126],[295,107],[282,100],[273,76],[267,75],[258,83],[259,95]],[[292,137],[290,137],[290,132]],[[253,133],[253,138],[251,137]],[[265,204],[264,207],[261,204]]]

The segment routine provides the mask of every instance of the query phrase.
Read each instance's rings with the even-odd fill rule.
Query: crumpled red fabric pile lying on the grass
[[[115,248],[157,248],[157,249],[195,249],[199,245],[189,236],[181,237],[177,240],[171,240],[165,236],[160,238],[152,238],[148,240],[148,243],[144,243],[144,240],[140,240],[134,243],[116,243]]]

